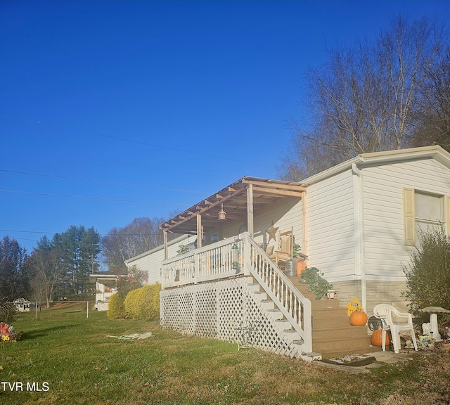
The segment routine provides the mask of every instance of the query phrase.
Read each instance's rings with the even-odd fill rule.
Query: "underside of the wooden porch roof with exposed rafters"
[[[247,189],[250,186],[253,189],[253,212],[279,203],[280,199],[301,198],[306,190],[305,186],[289,181],[245,176],[205,200],[201,200],[188,210],[177,214],[161,224],[160,229],[173,233],[196,233],[198,214],[202,217],[202,226],[205,231],[220,229],[233,219],[240,219],[246,223]],[[218,219],[222,204],[226,212],[226,221]]]

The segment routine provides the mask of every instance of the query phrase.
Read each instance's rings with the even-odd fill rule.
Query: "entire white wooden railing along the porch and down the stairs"
[[[272,262],[248,233],[162,262],[162,288],[253,276],[299,333],[303,352],[312,351],[311,301]]]

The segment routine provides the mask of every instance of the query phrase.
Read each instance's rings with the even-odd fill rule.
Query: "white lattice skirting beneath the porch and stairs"
[[[277,319],[274,303],[265,298],[248,276],[162,290],[160,323],[179,333],[241,343],[242,328],[251,326],[252,347],[300,357],[299,336]]]

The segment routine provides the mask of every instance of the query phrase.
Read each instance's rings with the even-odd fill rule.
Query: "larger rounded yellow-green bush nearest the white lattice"
[[[144,285],[132,290],[125,298],[125,316],[153,321],[160,316],[160,283]]]

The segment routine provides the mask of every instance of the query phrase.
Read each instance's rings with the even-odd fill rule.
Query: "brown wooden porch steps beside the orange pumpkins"
[[[316,300],[314,293],[307,290],[307,285],[299,283],[298,277],[290,277],[290,281],[311,301],[314,352],[321,353],[323,359],[329,359],[380,351],[380,347],[371,346],[367,326],[350,325],[347,308],[341,308],[339,300]]]

